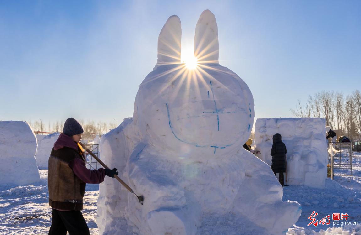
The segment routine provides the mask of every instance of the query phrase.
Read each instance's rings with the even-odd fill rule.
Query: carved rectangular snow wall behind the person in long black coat
[[[271,166],[272,138],[279,133],[287,148],[287,184],[325,187],[325,128],[324,118],[259,118],[255,126],[257,156]]]

